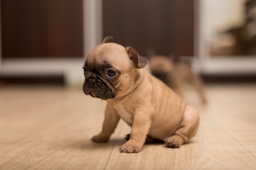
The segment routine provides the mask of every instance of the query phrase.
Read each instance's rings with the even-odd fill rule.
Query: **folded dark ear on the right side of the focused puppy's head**
[[[132,60],[133,63],[135,64],[136,68],[143,68],[146,66],[146,60],[143,57],[141,57],[135,49],[128,46],[125,48],[125,50],[128,53],[130,60]]]

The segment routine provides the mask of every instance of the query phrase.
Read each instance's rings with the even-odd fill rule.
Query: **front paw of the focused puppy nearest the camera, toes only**
[[[139,142],[136,141],[127,141],[124,145],[119,148],[121,152],[126,152],[126,153],[138,153],[141,151],[143,147],[143,144],[140,144]]]

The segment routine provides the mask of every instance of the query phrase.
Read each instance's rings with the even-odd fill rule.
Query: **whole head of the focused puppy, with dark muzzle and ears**
[[[113,99],[133,86],[137,69],[144,66],[146,60],[132,47],[125,48],[116,43],[100,44],[86,57],[83,92],[92,97]]]

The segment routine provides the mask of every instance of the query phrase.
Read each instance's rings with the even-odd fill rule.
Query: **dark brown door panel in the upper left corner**
[[[2,57],[83,56],[83,0],[1,0]]]

